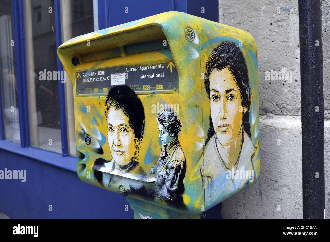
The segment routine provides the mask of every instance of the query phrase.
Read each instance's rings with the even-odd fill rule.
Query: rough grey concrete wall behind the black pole
[[[330,3],[321,2],[325,208],[330,218]],[[257,42],[261,129],[260,178],[223,202],[223,219],[302,219],[298,1],[219,0],[219,22],[248,31]],[[292,73],[292,82],[265,80],[270,70]]]

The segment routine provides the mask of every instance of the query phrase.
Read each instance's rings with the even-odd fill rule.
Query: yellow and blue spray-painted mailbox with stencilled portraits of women
[[[256,43],[167,12],[66,41],[78,175],[135,217],[199,215],[260,173]],[[193,216],[190,216],[193,217]]]

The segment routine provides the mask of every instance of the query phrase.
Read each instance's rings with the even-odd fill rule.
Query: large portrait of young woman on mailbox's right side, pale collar
[[[248,68],[235,43],[223,41],[212,51],[205,66],[204,87],[211,111],[208,139],[201,157],[208,200],[213,196],[225,196],[231,189],[238,191],[254,178],[256,148],[250,138]],[[230,176],[228,179],[228,174],[235,174],[235,171],[242,171],[246,177]]]

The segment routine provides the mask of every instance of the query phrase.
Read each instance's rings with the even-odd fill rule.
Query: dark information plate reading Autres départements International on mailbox
[[[75,75],[79,96],[104,96],[115,85],[126,85],[137,94],[179,93],[173,59],[81,70]]]

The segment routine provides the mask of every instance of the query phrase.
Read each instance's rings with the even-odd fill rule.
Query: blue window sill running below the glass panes
[[[24,155],[26,157],[77,173],[77,159],[74,157],[63,157],[61,154],[37,148],[21,148],[20,144],[6,140],[0,140],[0,149],[19,155]]]

